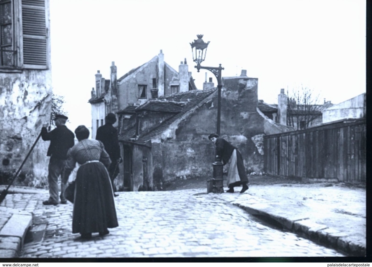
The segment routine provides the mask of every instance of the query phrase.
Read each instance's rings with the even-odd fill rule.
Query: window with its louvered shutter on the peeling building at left
[[[1,69],[47,69],[46,14],[45,0],[0,0]]]

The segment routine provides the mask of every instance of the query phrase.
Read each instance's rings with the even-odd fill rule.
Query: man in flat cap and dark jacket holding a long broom
[[[73,147],[75,135],[66,127],[67,117],[64,115],[55,115],[54,123],[57,126],[52,131],[48,132],[48,123],[43,124],[41,128],[41,138],[44,141],[50,141],[47,156],[50,156],[48,165],[48,184],[49,184],[49,199],[44,201],[44,205],[58,204],[58,177],[61,175],[64,168],[67,151]],[[67,201],[63,195],[66,184],[61,182],[61,204],[66,204]]]

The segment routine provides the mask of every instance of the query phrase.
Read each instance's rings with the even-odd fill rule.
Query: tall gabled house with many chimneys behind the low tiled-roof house
[[[105,116],[110,112],[117,113],[128,105],[141,105],[154,97],[196,90],[186,63],[186,60],[181,62],[177,72],[164,61],[164,54],[160,50],[150,61],[119,79],[114,62],[110,67],[110,79],[103,78],[98,71],[96,87],[92,89],[89,99],[92,107],[92,138],[95,138],[97,128],[105,123]]]

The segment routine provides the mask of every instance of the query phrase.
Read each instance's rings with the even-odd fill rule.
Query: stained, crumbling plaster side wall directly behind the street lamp
[[[223,79],[221,137],[239,148],[247,171],[260,172],[264,167],[263,136],[291,128],[276,125],[259,111],[257,83],[257,78],[242,76]],[[215,152],[208,135],[216,132],[217,101],[215,92],[163,133],[164,181],[212,175]]]

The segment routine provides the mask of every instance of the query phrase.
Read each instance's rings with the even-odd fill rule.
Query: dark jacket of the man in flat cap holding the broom
[[[48,132],[46,127],[41,128],[41,138],[50,141],[47,156],[57,159],[67,159],[67,151],[75,144],[75,135],[66,125],[57,126]]]

